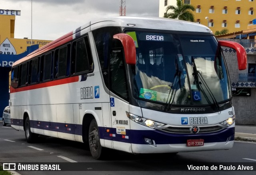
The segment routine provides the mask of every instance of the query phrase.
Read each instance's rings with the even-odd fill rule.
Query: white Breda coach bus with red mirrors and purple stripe
[[[11,124],[129,153],[230,149],[235,114],[226,62],[202,25],[165,18],[92,20],[12,66]]]

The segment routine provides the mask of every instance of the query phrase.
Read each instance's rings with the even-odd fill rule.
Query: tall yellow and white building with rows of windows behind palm
[[[208,26],[213,33],[222,29],[228,29],[229,33],[246,29],[256,18],[254,0],[183,0],[183,3],[194,6],[195,22]],[[159,17],[163,17],[166,7],[173,4],[176,0],[160,0]]]

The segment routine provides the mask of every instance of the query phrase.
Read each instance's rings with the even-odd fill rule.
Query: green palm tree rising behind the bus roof
[[[169,10],[171,12],[168,12]],[[167,6],[164,18],[194,22],[194,14],[190,10],[195,11],[196,9],[190,4],[183,4],[183,0],[177,0],[176,6]]]

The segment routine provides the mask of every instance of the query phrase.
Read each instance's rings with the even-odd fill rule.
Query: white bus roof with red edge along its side
[[[129,24],[129,26],[128,26]],[[133,26],[134,25],[134,26]],[[26,57],[16,61],[13,66],[23,63],[33,57],[39,56],[42,53],[46,53],[59,45],[67,43],[72,39],[75,39],[77,36],[80,36],[80,32],[88,27],[89,31],[94,29],[106,27],[106,26],[119,26],[126,28],[145,28],[145,29],[159,29],[159,30],[170,30],[170,31],[188,31],[188,32],[204,32],[212,33],[212,31],[206,26],[194,23],[187,22],[182,20],[175,20],[170,18],[159,18],[159,17],[136,17],[136,16],[112,16],[104,17],[100,19],[92,20],[86,23],[84,26],[81,26],[74,31],[63,35],[62,37],[48,43],[47,45],[37,49],[36,51],[28,54]],[[77,35],[79,33],[79,35]]]

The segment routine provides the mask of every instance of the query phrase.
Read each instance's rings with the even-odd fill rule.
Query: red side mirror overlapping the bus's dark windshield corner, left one
[[[114,39],[119,39],[124,47],[124,57],[128,65],[136,64],[136,48],[134,40],[130,35],[118,33],[113,36]]]

